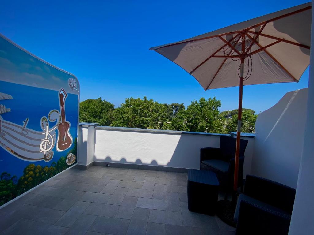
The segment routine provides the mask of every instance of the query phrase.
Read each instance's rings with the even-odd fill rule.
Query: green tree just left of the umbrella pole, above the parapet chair
[[[218,108],[221,101],[216,97],[200,98],[199,101],[193,101],[186,110],[186,125],[193,132],[222,133],[223,121],[220,118]],[[207,129],[206,129],[207,128]]]

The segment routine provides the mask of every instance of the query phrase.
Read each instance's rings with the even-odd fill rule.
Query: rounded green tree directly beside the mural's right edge
[[[106,100],[88,99],[79,104],[79,121],[110,126],[114,105]]]

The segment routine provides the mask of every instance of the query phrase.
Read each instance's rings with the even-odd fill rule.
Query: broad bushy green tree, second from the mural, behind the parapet
[[[127,98],[113,112],[111,126],[161,129],[168,119],[167,106],[152,99]]]

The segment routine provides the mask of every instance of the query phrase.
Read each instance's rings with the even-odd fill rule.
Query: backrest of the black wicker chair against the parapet
[[[240,156],[244,156],[248,140],[240,139]],[[230,136],[220,136],[219,149],[225,161],[236,157],[236,138]]]

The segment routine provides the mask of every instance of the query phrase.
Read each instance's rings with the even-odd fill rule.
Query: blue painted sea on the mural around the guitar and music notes
[[[0,100],[0,104],[5,105],[6,108],[11,108],[11,112],[1,114],[2,118],[18,125],[23,125],[23,121],[29,118],[27,128],[35,131],[42,131],[41,118],[43,116],[47,117],[52,109],[60,110],[59,91],[0,81],[0,92],[13,97],[13,99],[9,100]],[[74,140],[77,138],[78,133],[76,125],[78,122],[78,95],[68,94],[65,101],[65,115],[66,121],[71,123],[70,134]],[[49,123],[51,127],[54,124]],[[72,148],[73,144],[69,149],[57,152],[55,146],[52,149],[54,151],[53,158],[49,162],[45,162],[44,160],[30,162],[21,160],[0,147],[0,173],[7,172],[19,178],[23,175],[23,170],[27,165],[32,163],[41,165],[42,167],[50,167],[52,162],[57,162],[60,157],[66,157],[66,154]]]

